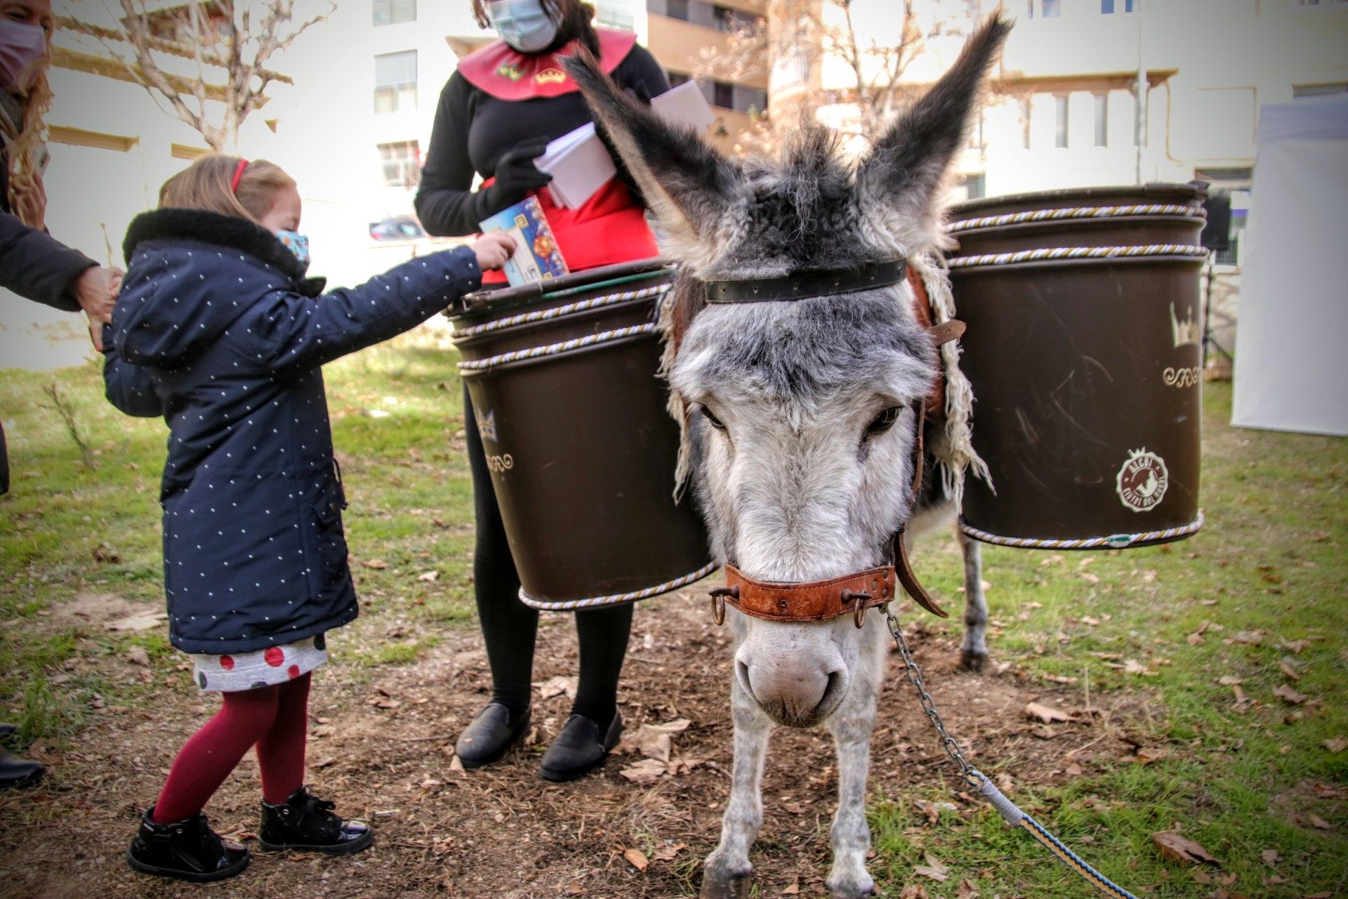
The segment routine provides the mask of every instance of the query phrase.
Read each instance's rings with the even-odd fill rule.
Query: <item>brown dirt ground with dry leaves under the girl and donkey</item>
[[[125,615],[125,604],[90,602],[65,609],[75,620]],[[1082,706],[1077,687],[1030,683],[1010,666],[972,675],[954,667],[958,631],[930,628],[909,611],[913,644],[931,693],[952,731],[976,744],[984,759],[1006,763],[1015,784],[1061,776],[1073,760],[1119,757],[1130,751],[1111,712],[1051,732],[1026,720],[1031,698],[1058,708]],[[98,621],[92,620],[92,627]],[[710,620],[701,593],[679,593],[638,611],[632,648],[620,691],[628,733],[642,724],[687,718],[673,740],[683,759],[675,776],[632,783],[621,770],[639,759],[619,755],[572,784],[550,784],[537,772],[538,757],[559,722],[565,694],[537,700],[532,744],[496,766],[472,774],[454,770],[458,729],[483,704],[488,686],[476,632],[449,632],[415,663],[353,669],[329,664],[315,679],[310,709],[310,772],[317,793],[338,802],[346,817],[376,828],[376,842],[346,859],[255,852],[240,877],[190,887],[132,873],[123,852],[140,809],[151,802],[181,741],[213,709],[210,698],[160,690],[154,712],[101,709],[84,732],[80,751],[35,752],[51,766],[46,784],[0,794],[0,895],[4,896],[492,896],[634,898],[696,895],[700,864],[717,840],[728,793],[731,724],[727,712],[728,640]],[[337,656],[340,639],[334,642]],[[143,671],[129,662],[125,677]],[[535,681],[576,671],[569,619],[545,619]],[[160,675],[162,677],[162,673]],[[186,678],[186,673],[171,677]],[[913,690],[899,685],[898,655],[882,700],[874,740],[872,801],[914,784],[956,784],[953,767],[938,755],[930,725]],[[535,698],[539,694],[535,694]],[[1138,694],[1131,709],[1140,714]],[[390,708],[391,706],[391,708]],[[1078,716],[1080,717],[1080,716]],[[1089,745],[1088,745],[1089,744]],[[805,760],[802,763],[802,760]],[[828,829],[836,776],[828,735],[778,731],[764,779],[766,821],[754,852],[759,895],[826,895]],[[216,828],[252,846],[257,821],[257,768],[249,755],[208,807]],[[977,801],[948,795],[968,815]],[[15,828],[19,806],[36,806],[36,824]],[[28,815],[26,815],[28,817]],[[5,822],[9,821],[9,825]],[[926,825],[911,810],[915,833]],[[639,871],[624,855],[651,857]],[[876,860],[872,869],[880,867]],[[797,884],[798,894],[793,894]],[[902,883],[886,883],[898,895]]]

